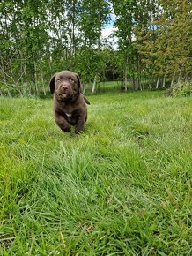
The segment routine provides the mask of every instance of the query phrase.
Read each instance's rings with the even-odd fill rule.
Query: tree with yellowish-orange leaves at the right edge
[[[148,30],[138,33],[137,48],[144,55],[144,62],[154,65],[154,72],[165,77],[175,75],[187,79],[191,75],[191,7],[188,0],[159,0],[158,10]],[[159,81],[159,79],[158,79]],[[158,83],[156,84],[158,87]]]

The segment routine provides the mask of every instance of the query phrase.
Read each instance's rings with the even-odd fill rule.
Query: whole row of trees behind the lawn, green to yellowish
[[[191,79],[190,0],[4,0],[0,88],[47,95],[50,76],[77,72],[85,90],[119,80],[122,90],[173,87]],[[115,15],[114,34],[102,29]],[[110,42],[115,39],[115,47]]]

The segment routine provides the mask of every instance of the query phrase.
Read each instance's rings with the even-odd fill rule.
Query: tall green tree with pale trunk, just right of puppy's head
[[[109,20],[108,14],[109,3],[107,1],[83,1],[81,6],[79,25],[83,38],[82,52],[84,52],[85,56],[88,56],[87,61],[89,63],[89,67],[92,67],[92,72],[94,73],[92,94],[95,92],[99,73],[103,69],[101,54],[101,29],[107,24],[107,21]],[[90,71],[90,68],[88,68],[88,71]]]

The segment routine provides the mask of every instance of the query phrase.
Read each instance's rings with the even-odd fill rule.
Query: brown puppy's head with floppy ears
[[[81,93],[78,74],[70,71],[55,73],[49,82],[51,94],[59,101],[74,101]]]

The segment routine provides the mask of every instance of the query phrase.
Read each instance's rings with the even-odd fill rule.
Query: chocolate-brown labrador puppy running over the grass
[[[70,132],[70,124],[76,126],[76,133],[81,132],[87,119],[86,103],[90,102],[82,94],[78,74],[70,71],[55,73],[49,87],[54,94],[56,124],[63,132]]]

